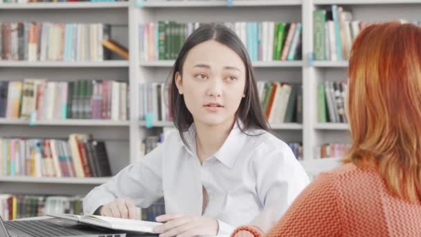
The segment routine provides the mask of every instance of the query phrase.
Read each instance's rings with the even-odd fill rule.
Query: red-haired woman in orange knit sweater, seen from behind
[[[420,42],[421,28],[397,22],[359,34],[348,164],[317,177],[266,236],[421,236]],[[260,235],[252,226],[233,234]]]

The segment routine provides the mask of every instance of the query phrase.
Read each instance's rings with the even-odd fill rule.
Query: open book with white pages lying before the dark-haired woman
[[[94,225],[97,227],[105,227],[108,229],[118,229],[125,231],[136,231],[145,233],[154,233],[154,227],[162,225],[159,222],[150,222],[143,220],[130,220],[123,218],[111,218],[108,216],[96,216],[96,215],[72,215],[72,214],[47,214],[55,218],[64,220],[74,220],[82,224]]]

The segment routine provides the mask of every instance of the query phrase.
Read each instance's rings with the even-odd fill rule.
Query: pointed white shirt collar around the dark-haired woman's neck
[[[229,168],[233,168],[235,161],[237,161],[238,155],[240,154],[240,151],[247,139],[247,134],[244,134],[240,130],[240,126],[242,126],[242,121],[238,120],[238,122],[234,124],[228,137],[226,137],[226,140],[222,144],[220,150],[217,150],[217,152],[213,155],[213,157],[221,161],[222,164]],[[183,144],[184,147],[191,153],[191,155],[197,157],[195,123],[192,123],[190,128],[188,128],[188,131],[183,132],[183,135],[187,143],[187,146]]]

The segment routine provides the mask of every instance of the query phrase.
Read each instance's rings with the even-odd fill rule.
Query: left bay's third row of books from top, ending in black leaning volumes
[[[111,170],[105,142],[89,134],[68,141],[0,137],[0,176],[109,177]]]

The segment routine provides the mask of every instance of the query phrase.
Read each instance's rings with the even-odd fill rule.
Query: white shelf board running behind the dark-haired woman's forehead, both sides
[[[174,60],[142,61],[141,67],[172,67]],[[252,62],[254,67],[302,67],[303,61],[256,61]]]

